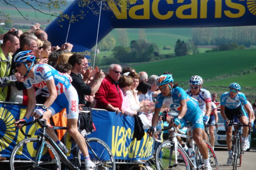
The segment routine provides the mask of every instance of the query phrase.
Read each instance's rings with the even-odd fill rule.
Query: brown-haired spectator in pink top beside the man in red
[[[131,110],[129,103],[128,103],[128,96],[127,91],[131,90],[132,85],[132,78],[130,76],[121,76],[119,78],[119,87],[122,91],[122,97],[123,97],[123,103],[122,103],[122,109],[124,110],[124,113],[129,116],[133,116],[137,114],[136,110]]]

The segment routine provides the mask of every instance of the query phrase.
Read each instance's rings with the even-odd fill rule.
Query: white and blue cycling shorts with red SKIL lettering
[[[48,108],[52,116],[59,113],[63,108],[67,110],[67,119],[78,119],[78,95],[73,86],[57,96],[53,104]]]

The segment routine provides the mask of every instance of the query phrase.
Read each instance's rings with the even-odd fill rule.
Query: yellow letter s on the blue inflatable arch
[[[239,1],[244,1],[244,0],[239,0]],[[238,9],[239,12],[237,14],[231,13],[229,10],[225,10],[224,14],[229,17],[229,18],[239,18],[242,17],[245,14],[245,6],[237,3],[231,2],[231,0],[226,0],[226,5],[232,9]]]

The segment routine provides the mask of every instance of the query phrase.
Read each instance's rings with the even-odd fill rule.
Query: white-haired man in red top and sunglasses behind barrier
[[[102,81],[98,92],[95,94],[95,108],[106,109],[119,113],[122,108],[123,98],[118,86],[118,79],[121,77],[122,67],[118,64],[109,66],[109,75]]]

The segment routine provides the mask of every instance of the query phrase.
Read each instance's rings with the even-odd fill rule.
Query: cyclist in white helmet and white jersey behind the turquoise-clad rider
[[[186,93],[196,99],[203,114],[203,121],[207,124],[212,112],[212,97],[211,93],[202,88],[203,79],[200,76],[192,76],[189,79],[190,89]],[[203,139],[207,140],[207,134],[203,133]]]

